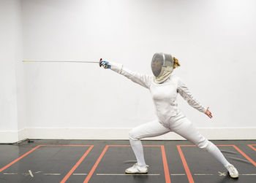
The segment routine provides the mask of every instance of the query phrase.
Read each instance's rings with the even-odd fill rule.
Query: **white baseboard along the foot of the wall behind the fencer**
[[[129,139],[131,128],[24,128],[20,131],[0,131],[0,142],[23,139]],[[256,128],[198,128],[209,140],[256,139]],[[184,140],[176,133],[146,138],[146,140]]]

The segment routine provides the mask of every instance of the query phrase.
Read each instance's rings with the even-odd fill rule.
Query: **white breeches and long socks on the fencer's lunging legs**
[[[184,117],[183,114],[179,113],[171,119],[170,124],[165,124],[165,126],[159,123],[157,120],[154,120],[133,128],[132,131],[129,131],[129,141],[133,152],[135,152],[139,166],[146,165],[143,156],[143,146],[140,139],[161,136],[170,131],[178,133],[178,135],[191,141],[200,149],[206,149],[211,153],[211,155],[217,158],[217,160],[219,160],[223,166],[230,164],[222,155],[222,152],[220,152],[219,149],[213,143],[211,143],[211,141],[208,141],[204,136],[202,136],[194,125],[192,125],[192,122],[187,119],[187,117]]]

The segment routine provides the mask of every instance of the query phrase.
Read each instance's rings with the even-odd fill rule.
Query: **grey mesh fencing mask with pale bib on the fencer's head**
[[[157,52],[153,55],[151,69],[154,74],[154,82],[162,83],[173,72],[173,57],[170,54]]]

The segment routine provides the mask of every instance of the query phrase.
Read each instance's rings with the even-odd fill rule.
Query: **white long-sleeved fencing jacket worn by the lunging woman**
[[[109,63],[111,70],[116,71],[118,74],[122,74],[125,77],[131,79],[133,82],[146,87],[150,90],[151,96],[154,101],[156,114],[159,122],[167,124],[170,122],[170,117],[176,116],[180,111],[178,110],[177,95],[178,93],[187,101],[187,103],[197,109],[200,112],[206,112],[206,107],[202,106],[189,92],[186,85],[181,82],[179,77],[171,74],[170,77],[157,84],[154,82],[154,76],[146,74],[140,74],[134,71],[130,71],[121,64]]]

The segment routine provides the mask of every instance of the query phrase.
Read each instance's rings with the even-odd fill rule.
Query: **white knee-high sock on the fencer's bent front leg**
[[[140,140],[134,141],[132,139],[129,139],[129,143],[131,144],[132,150],[135,153],[138,166],[146,166],[144,153],[143,153],[143,146],[141,144],[141,141]]]

